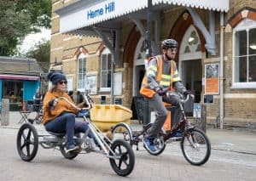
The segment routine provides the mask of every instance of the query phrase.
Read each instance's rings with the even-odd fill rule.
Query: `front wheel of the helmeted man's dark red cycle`
[[[192,165],[200,166],[206,163],[211,155],[210,141],[200,129],[191,128],[180,144],[183,156]]]

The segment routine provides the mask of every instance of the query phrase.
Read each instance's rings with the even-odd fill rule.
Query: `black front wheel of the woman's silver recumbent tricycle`
[[[122,139],[115,139],[111,145],[114,156],[118,156],[117,159],[109,158],[113,171],[119,176],[127,176],[131,173],[134,167],[135,156],[130,144]],[[112,151],[109,151],[109,156],[113,156]]]

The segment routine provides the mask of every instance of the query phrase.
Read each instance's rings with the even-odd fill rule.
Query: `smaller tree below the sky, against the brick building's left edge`
[[[38,42],[34,48],[31,48],[26,54],[25,57],[30,57],[37,59],[38,64],[41,66],[44,72],[49,70],[49,53],[50,53],[50,43],[49,40],[42,40]]]

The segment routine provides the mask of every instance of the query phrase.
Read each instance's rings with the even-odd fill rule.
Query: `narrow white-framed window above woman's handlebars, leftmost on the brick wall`
[[[85,75],[86,75],[86,59],[85,57],[79,57],[79,68],[78,68],[78,89],[84,91],[85,88]]]

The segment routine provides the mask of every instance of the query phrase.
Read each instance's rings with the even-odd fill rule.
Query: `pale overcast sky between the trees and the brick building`
[[[20,46],[20,53],[26,53],[27,50],[32,48],[37,42],[42,40],[43,38],[49,40],[50,38],[50,29],[42,29],[42,32],[29,34],[25,37],[22,45]]]

